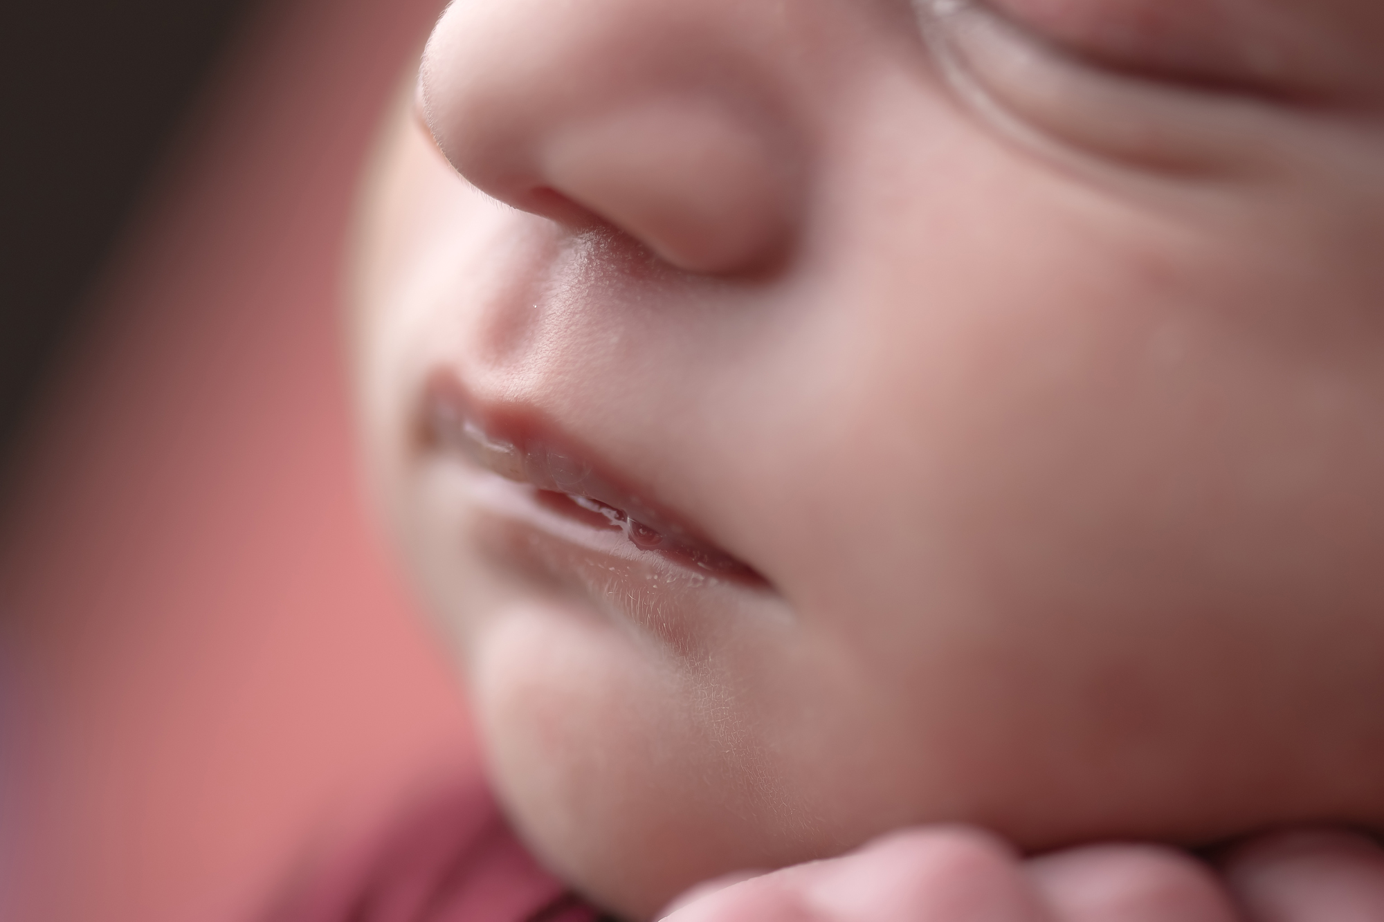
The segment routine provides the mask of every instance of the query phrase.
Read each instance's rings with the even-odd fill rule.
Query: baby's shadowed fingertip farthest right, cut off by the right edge
[[[1344,829],[1255,839],[1230,856],[1225,878],[1250,922],[1384,919],[1384,850]]]

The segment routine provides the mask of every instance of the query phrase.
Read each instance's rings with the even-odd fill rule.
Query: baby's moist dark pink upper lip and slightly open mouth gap
[[[592,529],[623,532],[639,551],[655,552],[709,577],[752,584],[764,579],[749,565],[699,539],[674,516],[616,486],[585,460],[516,417],[475,410],[457,379],[435,374],[421,414],[425,449],[469,458],[477,467],[534,489],[544,508]]]

